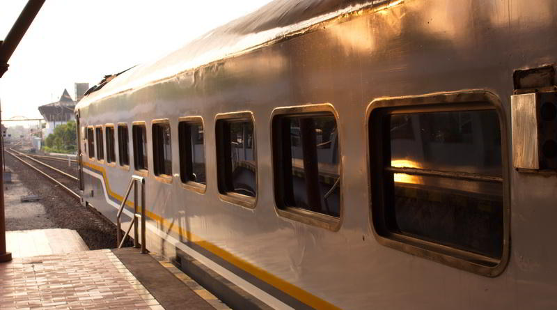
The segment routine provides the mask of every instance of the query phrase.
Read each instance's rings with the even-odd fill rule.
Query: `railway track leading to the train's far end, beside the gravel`
[[[60,169],[56,169],[54,166],[41,162],[30,155],[19,152],[19,150],[10,148],[10,150],[6,150],[6,153],[15,157],[26,166],[29,166],[29,168],[37,171],[52,183],[58,185],[59,188],[70,194],[74,199],[79,200],[79,179],[75,176],[72,176],[70,173],[65,173]]]

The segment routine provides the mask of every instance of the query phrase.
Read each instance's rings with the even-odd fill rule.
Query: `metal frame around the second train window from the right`
[[[274,120],[277,116],[299,116],[299,115],[318,115],[318,114],[332,114],[336,121],[337,127],[337,139],[338,139],[338,178],[340,178],[340,210],[338,217],[334,217],[331,215],[326,215],[320,212],[313,212],[310,210],[305,210],[303,208],[296,208],[296,207],[285,207],[281,208],[279,205],[279,199],[277,199],[278,195],[281,195],[282,191],[281,188],[283,186],[283,181],[281,180],[280,176],[281,173],[278,169],[281,169],[280,166],[276,164],[276,157],[278,156],[278,152],[281,150],[278,149],[278,145],[281,141],[274,135]],[[279,217],[283,217],[285,219],[291,219],[296,222],[301,222],[304,224],[308,224],[311,226],[317,226],[320,228],[326,228],[330,231],[338,231],[340,226],[342,226],[344,220],[344,197],[343,197],[343,162],[342,162],[342,141],[343,137],[340,130],[340,121],[338,117],[337,111],[334,109],[334,106],[330,103],[323,103],[323,104],[311,104],[311,105],[301,105],[301,106],[294,106],[294,107],[278,107],[273,109],[271,114],[271,122],[270,126],[270,140],[272,145],[271,157],[272,157],[272,169],[273,169],[273,193],[274,193],[274,208],[275,212],[278,214]]]

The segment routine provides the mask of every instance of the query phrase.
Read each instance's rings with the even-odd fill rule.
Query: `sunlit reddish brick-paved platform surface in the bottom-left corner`
[[[102,249],[0,263],[0,309],[164,308]]]

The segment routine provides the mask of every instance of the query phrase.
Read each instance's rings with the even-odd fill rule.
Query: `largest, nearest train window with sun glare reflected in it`
[[[368,120],[377,233],[494,268],[505,251],[503,146],[494,105],[380,102]]]

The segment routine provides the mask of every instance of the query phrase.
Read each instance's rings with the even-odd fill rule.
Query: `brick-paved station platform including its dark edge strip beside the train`
[[[29,241],[33,234],[40,235],[18,231],[11,238]],[[171,263],[139,249],[42,249],[64,253],[0,263],[0,309],[228,309]]]

